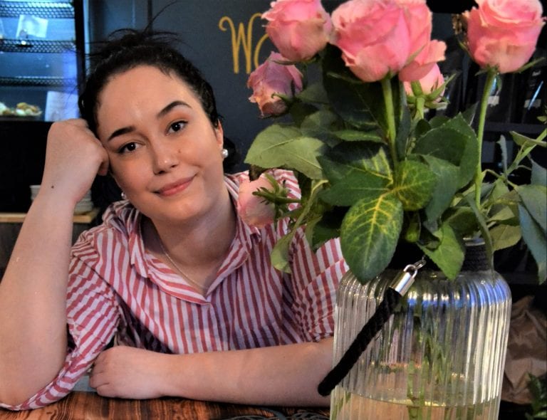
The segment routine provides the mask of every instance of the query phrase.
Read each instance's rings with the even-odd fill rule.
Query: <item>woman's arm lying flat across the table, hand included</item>
[[[192,355],[118,346],[101,353],[90,379],[105,397],[165,395],[241,404],[327,406],[317,392],[332,364],[333,339]]]

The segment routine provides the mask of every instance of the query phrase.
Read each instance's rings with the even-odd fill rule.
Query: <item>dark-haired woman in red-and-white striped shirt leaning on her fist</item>
[[[108,397],[328,404],[316,388],[332,364],[338,241],[314,253],[301,232],[291,275],[276,271],[286,223],[237,214],[248,174],[223,172],[209,84],[150,33],[100,56],[83,119],[51,127],[0,283],[0,406],[56,401],[90,368]],[[71,247],[74,206],[108,172],[124,199]],[[273,175],[298,196],[293,174]]]

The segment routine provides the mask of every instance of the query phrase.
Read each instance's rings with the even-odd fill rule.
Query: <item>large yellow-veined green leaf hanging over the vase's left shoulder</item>
[[[340,229],[340,246],[361,283],[375,278],[390,263],[402,227],[402,204],[392,194],[361,200],[348,210]]]

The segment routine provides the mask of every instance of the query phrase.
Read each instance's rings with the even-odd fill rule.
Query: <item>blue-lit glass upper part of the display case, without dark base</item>
[[[0,0],[0,115],[77,117],[81,14],[81,1]]]

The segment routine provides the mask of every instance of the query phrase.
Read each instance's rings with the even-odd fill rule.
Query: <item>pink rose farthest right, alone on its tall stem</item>
[[[545,18],[539,0],[476,0],[464,13],[467,41],[473,60],[497,67],[499,73],[518,70],[536,49]]]

